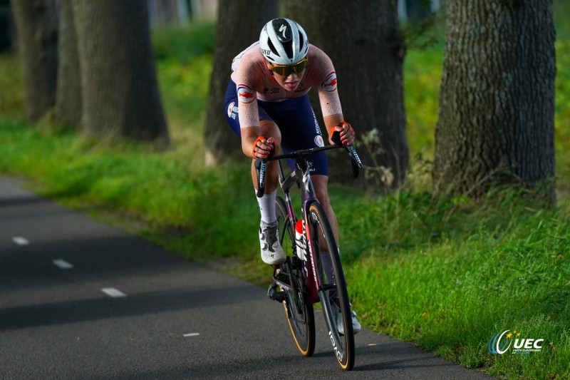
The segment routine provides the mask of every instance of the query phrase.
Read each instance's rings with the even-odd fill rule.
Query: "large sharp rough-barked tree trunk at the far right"
[[[447,1],[436,195],[554,177],[554,38],[552,1]]]

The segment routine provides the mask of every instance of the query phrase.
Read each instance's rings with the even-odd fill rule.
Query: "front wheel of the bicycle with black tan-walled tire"
[[[328,337],[333,345],[333,352],[341,368],[350,371],[354,366],[354,333],[352,326],[351,304],[346,290],[346,279],[338,255],[338,246],[333,230],[328,222],[323,207],[318,202],[309,206],[309,228],[311,229],[311,247],[313,247],[317,281],[320,286],[318,296],[321,299],[323,315],[328,327]],[[332,270],[324,267],[323,255],[328,255]],[[333,278],[329,278],[329,277]],[[344,334],[338,332],[336,317],[338,309],[342,313]]]

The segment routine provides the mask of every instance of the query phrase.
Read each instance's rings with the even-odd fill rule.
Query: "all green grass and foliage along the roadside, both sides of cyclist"
[[[441,34],[410,49],[405,61],[408,183],[383,197],[331,186],[361,322],[497,377],[570,379],[570,6],[555,1],[555,7],[557,207],[540,208],[535,190],[512,187],[482,200],[431,196]],[[0,173],[28,178],[45,197],[266,285],[270,271],[259,259],[247,160],[204,166],[214,27],[155,31],[154,38],[170,150],[26,123],[19,62],[5,55]],[[507,329],[544,339],[544,346],[531,354],[490,354],[489,339]]]

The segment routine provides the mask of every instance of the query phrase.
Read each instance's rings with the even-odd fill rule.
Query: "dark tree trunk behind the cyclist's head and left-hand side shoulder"
[[[259,40],[264,24],[277,17],[277,5],[275,0],[251,0],[247,6],[234,0],[218,2],[214,61],[204,125],[207,163],[243,156],[241,140],[229,128],[224,117],[224,94],[233,58]]]

